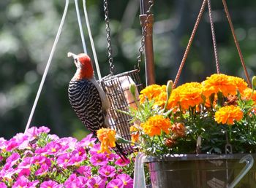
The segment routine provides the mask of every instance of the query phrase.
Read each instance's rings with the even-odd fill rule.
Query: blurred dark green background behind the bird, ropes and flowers
[[[175,79],[179,63],[202,0],[155,1],[154,60],[156,82],[165,84]],[[64,10],[64,0],[4,0],[0,1],[0,137],[11,138],[23,132],[39,87],[39,82]],[[80,14],[83,17],[83,5]],[[227,0],[233,25],[250,77],[255,74],[256,1]],[[102,76],[109,74],[103,1],[87,1],[89,20],[96,45]],[[225,17],[222,0],[212,1],[212,13],[217,36],[220,70],[244,77],[236,46]],[[129,71],[135,66],[140,47],[140,7],[138,0],[109,1],[110,28],[115,72]],[[84,19],[83,19],[83,23]],[[86,28],[87,47],[92,57]],[[72,111],[67,87],[75,73],[67,52],[83,51],[75,12],[69,0],[69,10],[61,38],[39,98],[31,126],[45,125],[60,137],[83,138],[86,129]],[[200,82],[216,72],[214,66],[208,9],[189,52],[179,84]],[[141,64],[140,77],[145,85]]]

